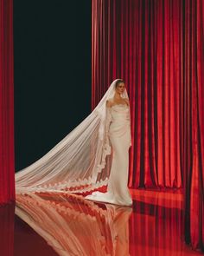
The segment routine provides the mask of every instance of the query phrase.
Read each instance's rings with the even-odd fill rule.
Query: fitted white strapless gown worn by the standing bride
[[[118,104],[108,109],[108,115],[111,116],[108,135],[112,145],[112,167],[107,192],[96,191],[85,198],[87,200],[131,206],[131,194],[127,187],[129,148],[131,147],[130,108],[126,104]]]

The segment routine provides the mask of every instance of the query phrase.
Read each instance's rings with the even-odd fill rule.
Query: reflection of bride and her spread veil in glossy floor
[[[131,207],[99,207],[77,195],[16,196],[16,215],[61,256],[129,255]]]

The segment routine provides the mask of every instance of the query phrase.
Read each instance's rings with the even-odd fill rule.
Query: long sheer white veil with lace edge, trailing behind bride
[[[107,184],[112,150],[107,130],[111,119],[106,101],[113,97],[114,80],[92,113],[54,148],[16,173],[16,193],[84,193]],[[128,98],[126,89],[122,95]]]

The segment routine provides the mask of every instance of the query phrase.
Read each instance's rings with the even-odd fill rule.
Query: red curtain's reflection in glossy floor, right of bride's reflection
[[[188,255],[190,248],[183,243],[182,233],[182,209],[136,201],[130,220],[130,254]]]

